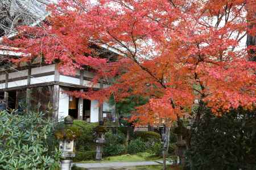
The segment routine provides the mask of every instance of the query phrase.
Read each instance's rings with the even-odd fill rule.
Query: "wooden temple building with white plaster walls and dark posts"
[[[76,75],[61,74],[56,64],[47,65],[34,61],[19,66],[10,63],[10,57],[18,57],[20,53],[13,48],[0,45],[0,99],[9,111],[44,112],[48,117],[61,120],[71,115],[78,120],[98,122],[106,117],[115,121],[114,108],[97,100],[86,100],[67,95],[65,91],[86,91],[89,88],[104,88],[106,84],[93,84],[93,70],[77,70]],[[105,49],[102,56],[113,56],[113,52]]]

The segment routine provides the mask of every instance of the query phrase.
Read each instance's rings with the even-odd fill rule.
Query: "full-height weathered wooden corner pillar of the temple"
[[[58,83],[60,81],[60,73],[57,69],[57,65],[55,64],[55,71],[54,71],[54,81]],[[59,116],[59,95],[60,95],[60,86],[59,84],[53,85],[53,92],[52,92],[52,118],[55,121],[58,121]]]

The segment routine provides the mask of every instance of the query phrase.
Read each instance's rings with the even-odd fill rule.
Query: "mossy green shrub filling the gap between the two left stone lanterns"
[[[76,150],[77,151],[90,151],[90,150],[96,150],[95,145],[95,131],[94,128],[98,123],[88,123],[81,120],[74,120],[73,126],[77,127],[81,131],[80,137],[76,139]]]

